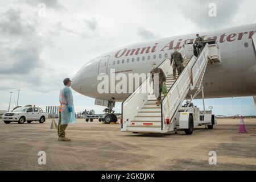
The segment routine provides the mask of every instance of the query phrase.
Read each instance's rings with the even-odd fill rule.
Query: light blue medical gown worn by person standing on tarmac
[[[68,125],[69,123],[75,123],[75,108],[73,105],[73,96],[71,89],[65,86],[60,90],[60,104],[61,104],[61,125]],[[72,107],[72,112],[68,111],[68,108]]]

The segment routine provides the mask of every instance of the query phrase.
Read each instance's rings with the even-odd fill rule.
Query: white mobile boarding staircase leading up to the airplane
[[[209,64],[220,64],[221,55],[218,45],[206,43],[199,57],[192,56],[187,59],[185,48],[179,49],[184,57],[184,70],[176,80],[173,79],[172,66],[170,59],[165,59],[158,68],[162,68],[167,76],[166,86],[168,93],[162,94],[162,103],[156,106],[156,97],[152,97],[151,76],[148,76],[142,84],[122,103],[122,129],[121,131],[130,131],[133,133],[167,133],[176,129],[186,129],[187,125],[180,123],[177,118],[180,111],[188,111],[189,107],[182,107],[183,101],[187,100],[188,93],[189,104],[199,93],[203,95],[203,78],[205,69]],[[177,73],[176,73],[177,75]],[[148,89],[151,88],[151,89]],[[195,109],[194,109],[195,110]],[[205,114],[200,111],[201,114]],[[198,115],[198,114],[197,114]],[[193,117],[196,117],[193,115]],[[198,116],[198,123],[202,115]],[[204,118],[204,115],[203,115]],[[202,119],[201,119],[202,120]],[[204,119],[203,119],[204,120]],[[196,119],[194,119],[194,126]]]

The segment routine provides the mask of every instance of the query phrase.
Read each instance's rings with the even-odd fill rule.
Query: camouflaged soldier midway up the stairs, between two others
[[[174,64],[172,65],[172,60],[174,61]],[[183,67],[183,57],[181,55],[181,53],[177,52],[177,49],[174,51],[174,53],[172,53],[171,56],[171,65],[172,65],[172,70],[173,70],[173,76],[174,76],[174,80],[176,79],[176,69],[180,75],[180,73],[183,71],[184,67]]]

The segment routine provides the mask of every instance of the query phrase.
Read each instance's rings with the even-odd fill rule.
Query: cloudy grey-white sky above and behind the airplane
[[[217,17],[208,16],[210,3],[216,3]],[[19,105],[58,105],[63,78],[72,78],[94,57],[144,40],[256,23],[255,5],[249,0],[1,0],[0,110],[7,110],[10,92],[11,108],[16,105],[17,89]],[[77,111],[104,109],[92,98],[76,92],[73,97]],[[216,114],[256,114],[252,97],[206,104]]]

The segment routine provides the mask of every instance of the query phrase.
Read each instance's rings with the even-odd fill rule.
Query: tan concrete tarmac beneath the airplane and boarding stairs
[[[67,128],[71,142],[57,140],[51,120],[0,121],[0,170],[256,170],[256,119],[245,119],[247,133],[238,133],[240,119],[217,119],[213,130],[199,126],[192,135],[122,133],[121,125],[77,119]]]

